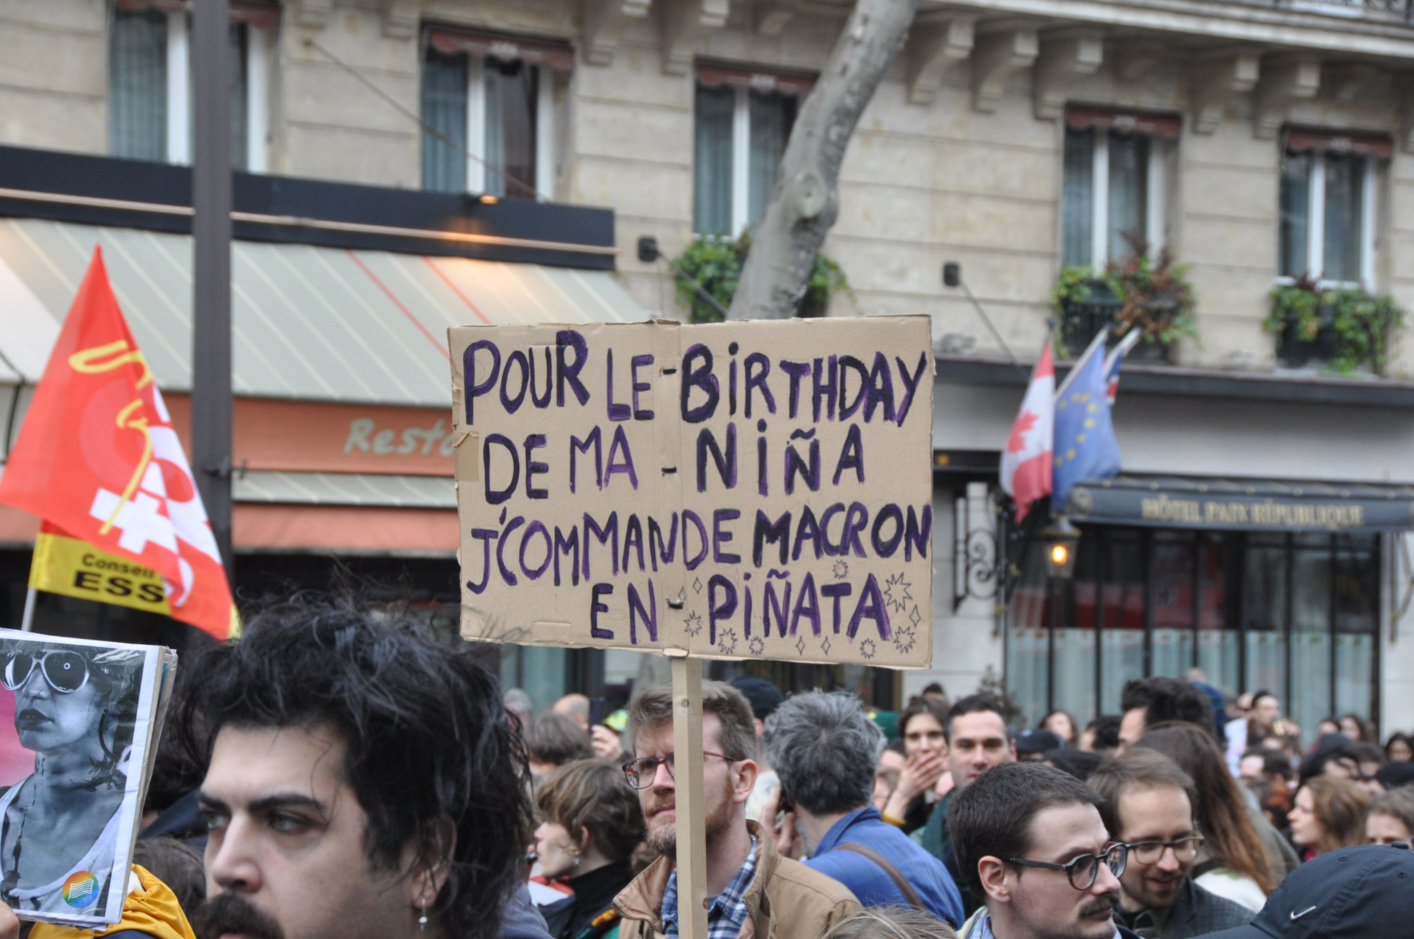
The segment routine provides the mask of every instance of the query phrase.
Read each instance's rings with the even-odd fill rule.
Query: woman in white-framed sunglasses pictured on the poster
[[[0,643],[0,687],[34,771],[0,791],[0,894],[18,911],[75,914],[102,902],[117,847],[141,652]],[[3,693],[0,693],[3,694]],[[28,837],[25,833],[28,832]],[[75,902],[79,901],[79,902]]]

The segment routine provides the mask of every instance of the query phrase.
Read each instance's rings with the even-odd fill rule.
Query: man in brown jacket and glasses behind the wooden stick
[[[614,898],[624,918],[619,939],[676,939],[672,689],[648,689],[633,699],[625,740],[633,748],[625,775],[638,789],[648,843],[663,857]],[[761,826],[747,822],[756,782],[756,731],[751,706],[730,684],[703,682],[703,751],[708,939],[817,939],[857,911],[858,901],[843,884],[781,857]]]

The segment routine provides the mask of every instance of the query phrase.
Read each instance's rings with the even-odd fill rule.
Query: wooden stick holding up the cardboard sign
[[[703,785],[703,662],[673,656],[677,809],[677,935],[707,939],[707,810]]]

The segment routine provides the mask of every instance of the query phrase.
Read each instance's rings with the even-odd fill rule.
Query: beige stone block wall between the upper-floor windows
[[[649,16],[626,20],[608,65],[581,55],[556,88],[556,198],[615,209],[619,277],[646,310],[667,315],[682,311],[666,264],[641,263],[632,249],[639,236],[653,235],[674,256],[691,236],[693,76],[666,74],[662,51],[662,8],[680,1],[658,0]],[[393,7],[400,18],[390,16]],[[271,42],[273,173],[420,185],[421,132],[411,116],[419,110],[417,23],[571,42],[583,28],[578,0],[393,7],[284,4]],[[102,0],[0,0],[0,143],[106,151],[105,18]],[[751,4],[732,4],[725,27],[696,40],[697,55],[819,71],[839,28],[836,20],[796,14],[766,35],[755,18]],[[1111,40],[1103,64],[1065,95],[1184,116],[1168,236],[1191,264],[1200,342],[1185,342],[1181,361],[1270,368],[1273,342],[1261,320],[1277,266],[1280,143],[1253,133],[1256,92],[1233,96],[1212,133],[1195,132],[1191,79],[1200,52],[1200,45],[1195,52]],[[833,313],[929,314],[935,335],[967,334],[978,352],[997,354],[973,307],[940,283],[942,263],[956,260],[1007,345],[1031,356],[1045,335],[1059,267],[1060,122],[1035,116],[1035,68],[1007,79],[993,113],[971,106],[970,61],[953,64],[926,105],[909,100],[906,72],[901,55],[846,154],[840,218],[826,250],[850,276],[857,305],[837,297]],[[1400,93],[1389,78],[1335,69],[1315,98],[1290,109],[1290,120],[1389,129],[1398,126],[1396,110],[1410,106]],[[1380,206],[1377,286],[1414,308],[1414,154],[1397,147]],[[1414,373],[1414,344],[1400,344],[1393,371]]]

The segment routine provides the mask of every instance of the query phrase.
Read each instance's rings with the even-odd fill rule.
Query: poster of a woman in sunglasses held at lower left
[[[175,667],[161,646],[0,629],[0,898],[21,919],[122,918]]]

